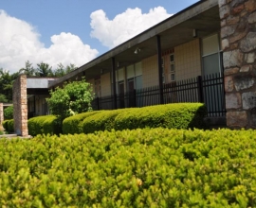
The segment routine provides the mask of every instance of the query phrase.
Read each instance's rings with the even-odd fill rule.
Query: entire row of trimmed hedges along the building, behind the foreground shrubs
[[[28,133],[93,133],[98,130],[134,130],[143,128],[204,128],[206,107],[201,103],[178,103],[143,108],[80,113],[67,117],[61,125],[56,116],[46,115],[28,120]],[[62,128],[61,128],[62,127]]]

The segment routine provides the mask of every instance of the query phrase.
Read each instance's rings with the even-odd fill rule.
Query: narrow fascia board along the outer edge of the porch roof
[[[196,8],[197,6],[203,5],[204,3],[207,3],[207,2],[209,2],[209,6],[206,7],[206,8],[204,8],[203,10],[210,9],[210,8],[215,7],[216,5],[218,5],[218,0],[201,0],[201,1],[198,1],[198,2],[196,2],[196,3],[194,3],[194,4],[192,4],[192,6],[186,8],[186,9],[180,10],[179,12],[177,12],[177,13],[175,13],[174,15],[172,15],[171,17],[169,17],[169,18],[163,20],[162,22],[156,24],[155,26],[152,26],[152,27],[150,27],[150,28],[144,30],[143,32],[137,34],[137,36],[135,36],[135,37],[133,37],[133,38],[127,40],[126,42],[120,43],[118,46],[116,46],[116,47],[110,49],[109,51],[107,51],[107,52],[101,54],[101,56],[97,57],[96,59],[94,59],[94,60],[92,60],[92,61],[86,62],[86,63],[83,64],[81,67],[79,67],[78,69],[76,69],[76,70],[74,70],[74,71],[68,73],[68,74],[65,75],[64,77],[59,78],[59,79],[57,79],[56,81],[53,81],[52,83],[49,83],[49,88],[52,88],[52,87],[54,87],[54,86],[56,86],[56,85],[59,85],[59,84],[61,84],[62,82],[66,81],[66,80],[69,79],[69,78],[73,78],[74,76],[78,75],[79,73],[82,73],[84,70],[86,70],[86,69],[88,69],[88,68],[90,68],[90,67],[92,67],[92,66],[98,64],[98,63],[101,62],[101,61],[106,61],[106,60],[108,60],[108,59],[110,59],[110,58],[112,58],[112,57],[115,57],[115,55],[119,54],[120,52],[122,52],[122,51],[124,51],[124,50],[127,50],[128,48],[134,47],[136,44],[135,44],[135,45],[129,45],[129,43],[132,43],[134,40],[139,39],[139,37],[142,37],[142,36],[145,35],[146,33],[151,33],[151,32],[154,33],[155,28],[157,28],[157,27],[159,27],[159,26],[161,26],[161,25],[164,25],[164,24],[167,23],[167,22],[170,22],[170,21],[174,20],[174,18],[177,18],[177,17],[181,16],[181,15],[182,15],[183,13],[185,13],[186,11],[189,11],[189,10],[191,10],[191,9],[194,9],[194,8]],[[194,12],[193,12],[193,15],[191,15],[190,18],[192,18],[192,16],[194,16],[194,15],[196,15],[196,14],[197,14],[197,13],[194,13]],[[185,20],[185,21],[186,21],[186,20]],[[183,22],[184,22],[184,21],[183,21]],[[178,25],[178,24],[180,24],[180,23],[181,23],[181,22],[177,22],[176,24],[174,24],[174,26],[176,26],[176,25]],[[173,26],[170,26],[170,28],[171,28],[171,27],[173,27]],[[156,31],[156,32],[154,33],[154,36],[158,35],[158,34],[161,33],[161,32],[163,32],[162,29],[160,29],[159,31]],[[151,37],[150,37],[150,38],[151,38]],[[149,39],[149,38],[148,38],[148,39]],[[143,41],[145,41],[145,40],[143,40]],[[141,43],[141,42],[139,42],[139,43]],[[127,44],[128,44],[128,45],[127,45]],[[126,45],[127,47],[125,47],[125,45]],[[120,51],[120,49],[121,49],[122,47],[124,47],[124,48]],[[86,68],[84,68],[84,67],[86,67]]]

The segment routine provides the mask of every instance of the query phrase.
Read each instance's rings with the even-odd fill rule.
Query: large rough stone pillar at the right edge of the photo
[[[256,129],[256,1],[219,0],[227,125]]]

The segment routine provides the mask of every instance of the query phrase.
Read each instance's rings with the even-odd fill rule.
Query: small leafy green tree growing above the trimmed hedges
[[[64,120],[72,114],[92,111],[93,96],[91,85],[82,79],[64,83],[63,88],[51,90],[50,98],[46,101],[50,112]]]

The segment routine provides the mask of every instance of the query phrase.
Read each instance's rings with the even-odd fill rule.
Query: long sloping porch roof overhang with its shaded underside
[[[87,62],[80,68],[49,83],[49,88],[62,85],[66,80],[75,80],[85,75],[86,80],[95,78],[112,69],[112,58],[119,67],[141,61],[156,55],[156,36],[160,36],[161,50],[165,52],[174,46],[188,43],[194,39],[193,29],[197,38],[206,37],[220,31],[218,0],[201,0],[191,7],[184,9],[163,22],[153,26],[136,37],[121,43],[93,61]],[[135,54],[135,50],[140,52]]]

